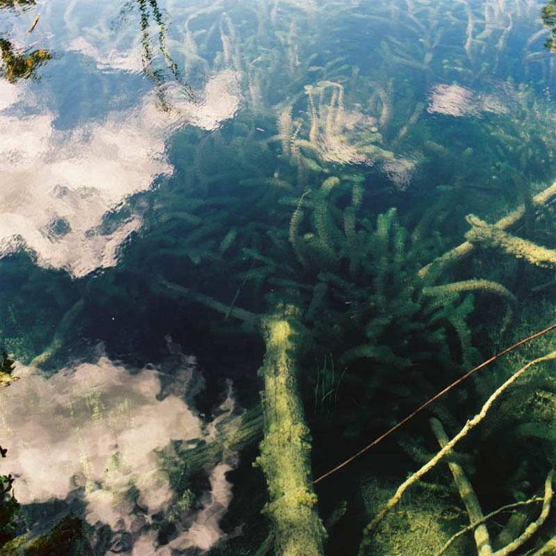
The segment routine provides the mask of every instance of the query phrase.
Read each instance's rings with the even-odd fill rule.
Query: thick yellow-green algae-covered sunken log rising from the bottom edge
[[[263,512],[270,518],[276,556],[320,556],[326,530],[316,511],[311,482],[311,436],[305,424],[292,352],[295,334],[287,314],[261,318],[266,344],[259,370],[264,380],[264,439],[256,463],[265,473],[270,501]]]

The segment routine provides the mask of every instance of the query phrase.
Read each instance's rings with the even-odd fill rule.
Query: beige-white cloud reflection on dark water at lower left
[[[8,448],[0,473],[16,477],[17,500],[70,500],[78,493],[91,525],[108,524],[115,532],[131,534],[134,556],[211,548],[223,534],[218,521],[231,499],[224,474],[235,465],[234,454],[214,464],[202,508],[175,518],[177,534],[170,543],[159,546],[150,525],[154,514],[168,515],[174,495],[154,450],[172,455],[171,441],[210,441],[217,425],[229,423],[234,411],[230,389],[218,423],[206,425],[184,401],[185,391],[202,382],[195,358],[172,357],[177,364],[170,374],[152,368],[130,374],[106,357],[50,378],[18,365],[15,375],[21,378],[0,392],[0,434]],[[161,391],[166,397],[157,400]],[[138,489],[137,505],[125,496],[130,484]]]

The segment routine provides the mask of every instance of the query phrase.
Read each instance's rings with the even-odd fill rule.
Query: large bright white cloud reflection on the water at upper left
[[[24,101],[35,104],[28,92]],[[97,231],[104,214],[172,171],[151,103],[70,131],[54,128],[54,113],[0,113],[0,256],[25,247],[38,265],[74,277],[115,264],[141,222],[129,218],[104,235]]]

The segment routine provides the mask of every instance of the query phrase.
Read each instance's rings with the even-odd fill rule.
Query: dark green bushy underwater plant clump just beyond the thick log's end
[[[461,363],[477,360],[467,324],[473,293],[494,295],[506,304],[502,332],[515,297],[488,280],[450,282],[447,268],[421,278],[425,261],[434,259],[442,245],[439,234],[423,238],[434,209],[413,233],[402,227],[395,209],[373,225],[359,216],[361,193],[361,181],[346,174],[328,177],[299,199],[286,197],[286,204],[296,204],[289,245],[285,231],[275,230],[274,249],[269,246],[264,255],[244,249],[254,266],[243,276],[268,284],[270,305],[295,300],[304,311],[300,350],[307,365],[332,352],[340,372],[348,369],[345,381],[352,386],[346,388],[358,384],[359,395],[368,400],[381,389],[407,389],[414,380],[414,389],[430,393],[433,368],[455,372]],[[351,203],[341,210],[338,204],[347,195]]]

